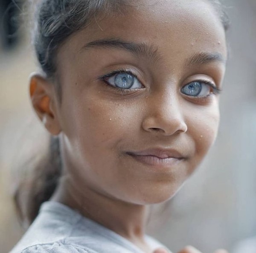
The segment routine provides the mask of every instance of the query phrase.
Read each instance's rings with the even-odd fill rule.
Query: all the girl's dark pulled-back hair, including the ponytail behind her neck
[[[115,13],[128,0],[41,0],[37,4],[33,43],[38,62],[47,78],[56,73],[55,56],[61,44],[71,34],[86,27],[99,14]],[[228,18],[218,0],[210,0],[215,6],[224,29]],[[56,82],[55,82],[56,83]],[[56,84],[59,85],[59,84]],[[61,87],[56,87],[61,94]],[[35,167],[31,178],[20,182],[15,192],[15,203],[22,220],[29,224],[38,215],[41,203],[49,200],[61,175],[58,137],[51,137],[49,154]],[[24,192],[26,192],[24,194]]]

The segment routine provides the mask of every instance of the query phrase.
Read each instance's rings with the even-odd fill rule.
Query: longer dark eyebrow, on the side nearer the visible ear
[[[160,59],[160,53],[154,45],[148,45],[147,43],[134,43],[127,42],[120,39],[103,39],[95,40],[87,43],[82,48],[117,48],[125,49],[131,52],[135,56],[144,57],[153,62],[157,62]]]

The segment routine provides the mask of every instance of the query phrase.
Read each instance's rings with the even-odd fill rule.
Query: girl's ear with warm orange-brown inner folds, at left
[[[50,134],[58,135],[61,126],[57,117],[58,101],[53,84],[40,74],[32,74],[29,90],[32,106],[39,119]]]

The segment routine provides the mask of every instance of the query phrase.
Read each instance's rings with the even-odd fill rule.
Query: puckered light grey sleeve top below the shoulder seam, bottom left
[[[55,242],[52,244],[36,244],[21,251],[12,250],[11,253],[97,253],[86,247]]]

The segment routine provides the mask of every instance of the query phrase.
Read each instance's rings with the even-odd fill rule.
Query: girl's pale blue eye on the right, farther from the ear
[[[206,81],[190,82],[181,89],[183,94],[192,97],[207,97],[211,93],[218,94],[219,91],[215,84]]]

